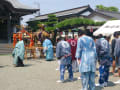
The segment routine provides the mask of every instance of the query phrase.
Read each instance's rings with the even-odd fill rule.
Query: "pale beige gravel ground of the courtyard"
[[[57,61],[29,59],[24,61],[25,67],[15,68],[12,60],[11,56],[0,56],[0,90],[81,90],[81,81],[77,80],[78,72],[74,73],[73,82],[56,83],[59,79],[59,71],[55,70]],[[65,79],[67,77],[66,72]],[[96,90],[120,90],[120,85],[113,83],[118,79],[110,75],[108,87],[96,87]]]

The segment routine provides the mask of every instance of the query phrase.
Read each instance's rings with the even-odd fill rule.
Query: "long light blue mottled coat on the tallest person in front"
[[[77,41],[76,58],[81,59],[79,71],[95,72],[96,71],[96,46],[94,40],[89,36],[82,36]]]

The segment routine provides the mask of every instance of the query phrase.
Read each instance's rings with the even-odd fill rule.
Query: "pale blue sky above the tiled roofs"
[[[95,9],[96,5],[115,6],[120,9],[120,0],[19,0],[21,3],[33,8],[37,8],[38,5],[35,2],[40,3],[41,14],[76,8],[84,5],[90,5]],[[33,18],[33,15],[24,17],[22,24],[24,24],[29,18]]]

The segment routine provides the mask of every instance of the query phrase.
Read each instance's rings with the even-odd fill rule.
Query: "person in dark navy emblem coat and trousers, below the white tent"
[[[99,39],[96,42],[97,55],[99,60],[99,85],[101,87],[107,86],[109,79],[109,68],[111,65],[110,57],[110,45],[106,38],[102,34],[99,35]]]

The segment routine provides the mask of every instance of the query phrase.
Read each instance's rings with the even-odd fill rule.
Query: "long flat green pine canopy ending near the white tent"
[[[104,23],[105,22],[94,22],[93,20],[86,18],[72,18],[57,23],[56,28],[72,29],[72,28],[77,28],[80,26],[88,26],[88,25],[99,26],[99,25],[103,25]]]

